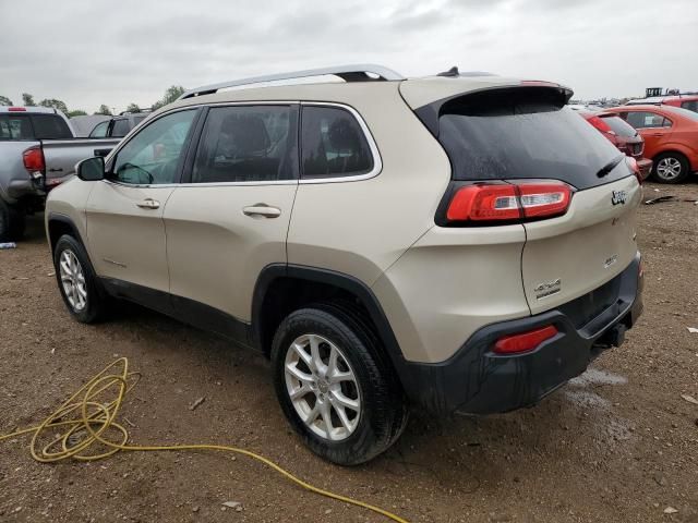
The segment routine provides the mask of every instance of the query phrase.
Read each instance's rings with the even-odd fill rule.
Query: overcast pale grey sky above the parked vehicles
[[[330,64],[458,65],[576,98],[698,89],[698,0],[0,0],[0,95],[147,107],[195,87]]]

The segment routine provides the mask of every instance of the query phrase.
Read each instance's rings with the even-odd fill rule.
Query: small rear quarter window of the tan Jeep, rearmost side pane
[[[303,106],[301,178],[353,177],[372,170],[371,148],[351,112],[338,107]]]

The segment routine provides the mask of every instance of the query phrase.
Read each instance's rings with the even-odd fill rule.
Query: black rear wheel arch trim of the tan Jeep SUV
[[[286,291],[292,292],[299,288],[309,289],[308,295],[301,296],[298,302],[291,300],[286,304],[279,303],[279,300],[284,301]],[[328,294],[323,295],[323,292]],[[257,278],[252,299],[250,341],[268,356],[276,328],[298,306],[297,303],[316,302],[318,299],[333,296],[333,292],[338,297],[354,299],[365,311],[401,381],[406,362],[377,297],[365,283],[344,272],[299,265],[266,266]]]

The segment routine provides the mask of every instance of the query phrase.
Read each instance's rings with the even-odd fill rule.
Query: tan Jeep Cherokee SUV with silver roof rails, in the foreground
[[[570,96],[375,65],[194,89],[51,193],[60,292],[80,321],[125,299],[262,351],[335,463],[410,405],[534,404],[641,311],[637,173]]]

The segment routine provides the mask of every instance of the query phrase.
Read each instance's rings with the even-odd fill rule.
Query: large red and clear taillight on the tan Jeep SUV
[[[571,188],[557,181],[473,184],[460,187],[446,210],[448,222],[519,221],[564,215]]]

